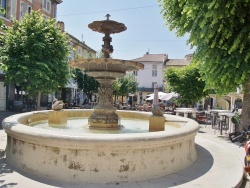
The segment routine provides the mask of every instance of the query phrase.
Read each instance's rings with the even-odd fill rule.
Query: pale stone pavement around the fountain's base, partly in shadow
[[[12,114],[0,111],[0,122]],[[219,136],[219,131],[214,131],[210,125],[200,127],[195,138],[198,158],[190,167],[161,178],[110,184],[58,182],[21,172],[6,162],[4,148],[7,138],[4,130],[0,129],[0,188],[250,188],[248,175],[243,171],[244,148],[239,147],[239,143],[231,143],[226,135]]]

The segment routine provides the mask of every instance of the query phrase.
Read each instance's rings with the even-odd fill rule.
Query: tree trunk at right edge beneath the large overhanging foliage
[[[240,117],[241,125],[247,129],[250,125],[250,80],[243,85],[243,105]],[[240,127],[242,130],[242,127]]]

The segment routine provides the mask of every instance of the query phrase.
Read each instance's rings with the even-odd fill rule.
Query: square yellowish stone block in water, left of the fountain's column
[[[67,112],[64,110],[59,111],[49,111],[49,125],[56,126],[65,126],[67,124]]]

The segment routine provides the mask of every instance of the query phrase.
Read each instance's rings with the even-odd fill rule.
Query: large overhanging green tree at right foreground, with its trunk
[[[220,94],[243,88],[241,123],[250,121],[249,0],[158,0],[170,30],[190,35],[207,87]]]

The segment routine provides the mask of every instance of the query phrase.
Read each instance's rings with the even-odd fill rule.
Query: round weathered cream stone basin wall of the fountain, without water
[[[68,119],[88,117],[93,110],[65,110]],[[151,113],[117,111],[121,118],[148,119]],[[6,158],[14,167],[61,181],[111,183],[148,180],[178,172],[197,158],[197,122],[164,115],[178,131],[134,134],[59,134],[28,126],[46,121],[48,111],[10,116]]]

